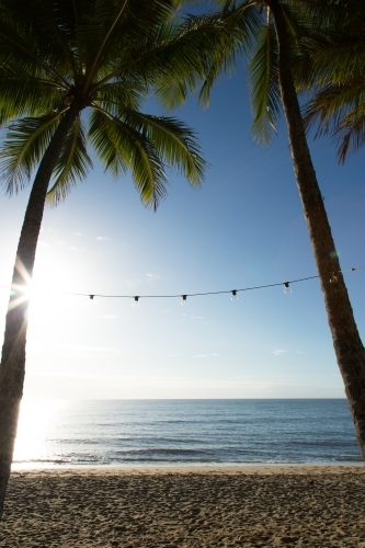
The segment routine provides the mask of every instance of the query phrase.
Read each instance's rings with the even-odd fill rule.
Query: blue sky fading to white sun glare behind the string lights
[[[150,107],[149,112],[156,111]],[[24,393],[41,398],[344,397],[317,279],[239,294],[132,299],[67,296],[230,290],[316,275],[284,122],[269,148],[250,137],[243,70],[178,113],[210,163],[199,191],[170,174],[145,209],[129,176],[100,165],[46,209],[34,273]],[[343,269],[365,265],[364,153],[344,167],[310,144]],[[27,201],[0,196],[0,330]],[[361,333],[365,270],[345,274]]]

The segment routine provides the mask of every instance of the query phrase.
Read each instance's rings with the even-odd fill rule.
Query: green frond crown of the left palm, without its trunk
[[[87,142],[106,172],[130,171],[148,206],[166,194],[166,163],[197,186],[205,162],[193,133],[174,118],[141,112],[158,70],[172,62],[162,45],[178,42],[176,70],[191,62],[178,39],[182,25],[170,21],[173,2],[148,2],[148,9],[142,1],[21,4],[19,13],[5,12],[1,32],[0,113],[3,124],[11,121],[1,149],[7,191],[30,181],[70,111],[75,119],[53,170],[50,204],[87,176]]]

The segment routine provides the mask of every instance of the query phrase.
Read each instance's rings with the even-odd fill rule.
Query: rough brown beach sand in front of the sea
[[[365,468],[14,471],[3,548],[365,548]]]

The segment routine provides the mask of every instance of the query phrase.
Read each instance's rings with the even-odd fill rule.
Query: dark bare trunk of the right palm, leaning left
[[[357,439],[365,459],[365,349],[360,339],[347,289],[311,162],[293,82],[290,46],[278,0],[266,0],[274,18],[278,42],[280,85],[286,116],[297,185],[307,220],[310,242],[333,339],[338,365],[355,424]],[[331,283],[335,273],[337,283]]]

